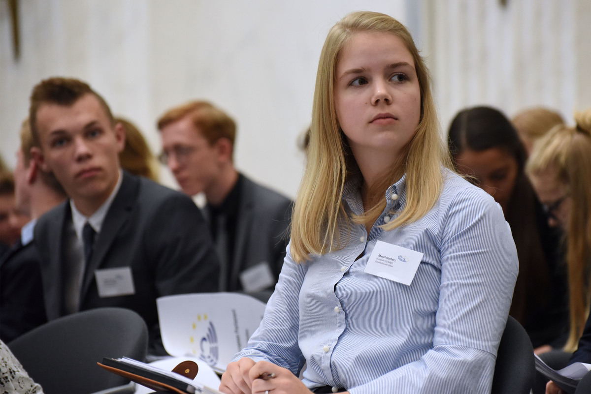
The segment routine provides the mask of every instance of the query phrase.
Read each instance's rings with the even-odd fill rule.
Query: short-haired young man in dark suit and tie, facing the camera
[[[217,290],[202,215],[187,196],[121,170],[124,129],[86,83],[41,81],[29,118],[35,162],[70,197],[35,226],[48,319],[129,308],[148,324],[149,351],[163,353],[156,298]]]

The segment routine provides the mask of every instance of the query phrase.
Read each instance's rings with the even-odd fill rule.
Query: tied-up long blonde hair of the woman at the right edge
[[[568,186],[571,211],[567,230],[570,334],[565,350],[573,351],[589,314],[591,273],[591,109],[575,113],[576,127],[559,125],[538,140],[527,163],[530,176],[548,169]]]

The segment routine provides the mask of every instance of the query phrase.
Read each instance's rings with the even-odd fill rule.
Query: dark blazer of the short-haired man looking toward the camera
[[[71,221],[70,202],[66,201],[41,216],[35,226],[50,320],[64,314],[64,232]],[[115,267],[131,268],[135,294],[101,298],[95,271]],[[148,324],[150,343],[154,344],[160,336],[156,298],[217,291],[218,278],[219,262],[209,230],[193,201],[124,172],[85,268],[80,310],[107,306],[132,309]]]

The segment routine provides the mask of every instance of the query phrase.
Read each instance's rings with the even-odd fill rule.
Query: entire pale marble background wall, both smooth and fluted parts
[[[21,57],[0,1],[0,152],[14,165],[31,87],[89,81],[160,152],[155,119],[206,98],[238,123],[235,160],[294,196],[320,48],[347,12],[408,25],[434,77],[442,129],[465,106],[514,114],[545,105],[571,119],[591,106],[589,0],[18,0]],[[504,5],[505,3],[506,5]],[[170,174],[164,182],[173,185]]]

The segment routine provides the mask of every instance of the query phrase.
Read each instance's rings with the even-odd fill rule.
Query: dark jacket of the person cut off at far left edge
[[[0,339],[11,342],[46,323],[40,257],[35,241],[17,244],[0,259]]]

